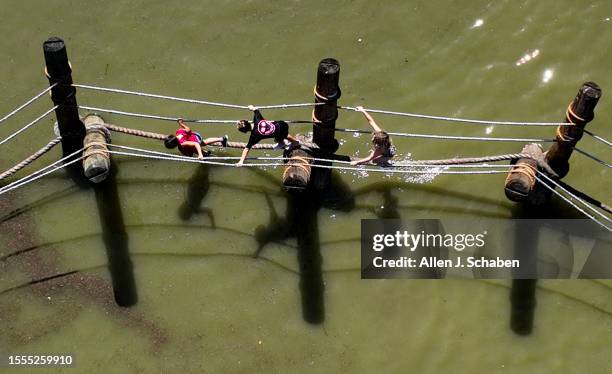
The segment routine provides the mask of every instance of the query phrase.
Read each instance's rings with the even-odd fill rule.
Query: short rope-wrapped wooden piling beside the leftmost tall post
[[[104,119],[100,116],[90,114],[83,122],[86,128],[83,140],[83,171],[91,182],[100,183],[110,171],[110,155],[106,145],[110,142],[110,133],[104,127]]]

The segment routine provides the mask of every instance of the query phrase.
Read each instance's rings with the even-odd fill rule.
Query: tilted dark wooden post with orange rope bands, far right
[[[559,179],[569,171],[569,158],[576,143],[582,138],[584,127],[595,117],[594,109],[601,97],[601,88],[596,83],[582,85],[565,112],[565,122],[572,126],[559,126],[555,142],[546,151],[546,162],[559,175]]]

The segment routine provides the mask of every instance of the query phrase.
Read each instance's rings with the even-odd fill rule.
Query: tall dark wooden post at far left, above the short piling
[[[55,115],[62,136],[62,149],[67,156],[83,147],[85,126],[79,118],[76,101],[76,88],[72,86],[72,68],[68,61],[66,44],[57,37],[43,43],[45,54],[45,74],[51,89],[51,99],[57,105]]]

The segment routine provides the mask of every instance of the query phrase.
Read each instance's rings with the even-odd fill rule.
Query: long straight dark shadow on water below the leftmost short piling
[[[106,246],[108,268],[113,282],[113,293],[117,305],[133,306],[138,302],[134,267],[130,259],[128,234],[125,230],[119,191],[115,180],[117,166],[111,161],[111,170],[105,181],[95,184],[94,191],[102,238]]]

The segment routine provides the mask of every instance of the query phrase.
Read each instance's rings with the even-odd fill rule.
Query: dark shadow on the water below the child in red
[[[205,213],[210,219],[211,226],[214,229],[216,225],[212,209],[201,206],[202,201],[210,189],[209,174],[209,165],[198,164],[195,173],[187,182],[187,197],[185,202],[179,207],[178,214],[183,221],[188,221],[195,214]]]

